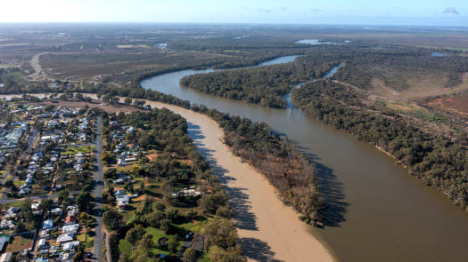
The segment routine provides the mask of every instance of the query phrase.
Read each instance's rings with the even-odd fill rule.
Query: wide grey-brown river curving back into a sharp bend
[[[259,66],[285,63],[296,56]],[[144,88],[265,122],[316,159],[321,189],[331,204],[327,226],[310,233],[342,261],[467,261],[468,215],[393,159],[344,131],[308,118],[297,107],[273,109],[182,88],[184,70],[142,81]]]

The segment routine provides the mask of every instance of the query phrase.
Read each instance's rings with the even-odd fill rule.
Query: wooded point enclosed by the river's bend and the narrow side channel
[[[291,63],[189,75],[180,84],[226,99],[285,108],[284,94],[301,81],[323,77],[338,60],[304,55]]]

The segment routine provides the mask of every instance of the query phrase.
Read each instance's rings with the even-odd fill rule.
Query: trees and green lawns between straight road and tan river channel
[[[134,178],[135,183],[114,185],[111,181],[118,177],[118,171],[108,168],[104,173],[107,191],[103,199],[107,210],[103,213],[103,221],[115,231],[111,237],[114,258],[119,258],[119,261],[152,261],[160,254],[176,255],[187,234],[199,237],[206,231],[209,220],[223,218],[228,221],[232,218],[233,211],[227,202],[226,192],[208,163],[196,151],[187,134],[187,123],[180,115],[168,109],[127,115],[104,113],[103,136],[107,152],[113,152],[118,143],[113,135],[119,128],[111,128],[110,123],[135,127],[135,131],[127,132],[123,142],[120,140],[120,145],[131,144],[140,152],[144,150],[158,155],[151,160],[146,155],[139,155],[138,165],[122,170]],[[188,187],[198,195],[177,195]],[[115,209],[113,193],[118,188],[138,195],[125,210]],[[227,230],[230,237],[237,238],[235,227],[218,230]],[[212,245],[218,246],[218,243]],[[235,242],[218,246],[222,252],[236,254],[241,254],[240,248]],[[228,261],[243,260],[240,255]]]

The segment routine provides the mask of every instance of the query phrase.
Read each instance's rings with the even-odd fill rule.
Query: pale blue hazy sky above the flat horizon
[[[37,21],[468,27],[468,0],[0,0],[0,22]]]

